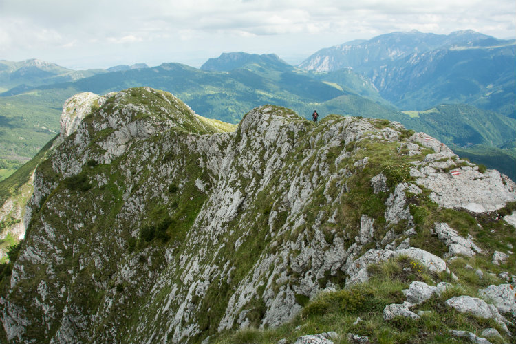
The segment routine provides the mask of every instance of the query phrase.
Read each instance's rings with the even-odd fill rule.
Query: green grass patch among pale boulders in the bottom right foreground
[[[211,343],[260,343],[275,344],[282,338],[287,343],[294,343],[299,336],[334,331],[338,335],[332,338],[336,344],[352,343],[347,340],[348,333],[368,336],[372,343],[471,343],[467,338],[451,336],[448,330],[473,332],[481,336],[482,330],[494,327],[504,336],[490,338],[491,343],[510,343],[510,337],[493,320],[476,318],[447,308],[447,299],[469,295],[478,297],[475,288],[486,288],[489,283],[500,283],[497,277],[486,277],[483,280],[475,277],[474,272],[464,269],[465,264],[473,264],[475,268],[483,264],[479,259],[458,259],[453,264],[460,278],[464,279],[440,297],[434,295],[428,301],[412,308],[427,312],[421,319],[411,320],[398,316],[392,321],[383,320],[383,308],[391,303],[402,303],[405,295],[401,290],[409,287],[411,281],[431,281],[438,276],[431,274],[418,261],[407,258],[391,259],[383,264],[370,266],[373,277],[363,284],[351,288],[319,294],[305,306],[295,319],[270,330],[257,330],[251,327],[244,330],[217,334]],[[461,267],[459,267],[461,266]],[[472,283],[471,283],[472,282]],[[362,321],[356,323],[358,317]],[[509,342],[508,342],[509,341]]]

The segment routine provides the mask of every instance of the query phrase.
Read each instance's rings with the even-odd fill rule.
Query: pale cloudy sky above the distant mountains
[[[0,0],[0,60],[72,69],[179,62],[223,52],[317,50],[379,34],[475,30],[516,38],[514,0]]]

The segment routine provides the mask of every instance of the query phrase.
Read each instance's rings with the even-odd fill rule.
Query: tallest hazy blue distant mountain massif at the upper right
[[[301,69],[351,68],[400,109],[467,103],[516,118],[516,41],[471,30],[394,32],[316,52]]]

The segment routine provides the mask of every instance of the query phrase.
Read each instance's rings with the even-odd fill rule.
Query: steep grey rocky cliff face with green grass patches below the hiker
[[[153,89],[77,97],[82,119],[62,120],[73,125],[36,170],[0,299],[10,343],[184,343],[275,327],[393,255],[452,273],[427,252],[441,247],[436,230],[455,238],[447,255],[490,248],[453,235],[450,214],[507,213],[516,200],[504,175],[386,120],[314,125],[265,105],[224,132]]]

